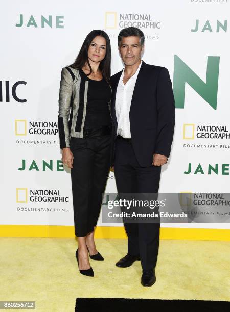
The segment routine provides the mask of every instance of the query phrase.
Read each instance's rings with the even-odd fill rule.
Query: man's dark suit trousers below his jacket
[[[158,193],[161,167],[140,167],[132,144],[117,137],[114,174],[118,193]],[[128,254],[140,255],[142,268],[156,266],[159,247],[159,223],[124,223],[128,236]]]

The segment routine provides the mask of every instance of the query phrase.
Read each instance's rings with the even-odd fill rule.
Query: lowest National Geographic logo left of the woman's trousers
[[[28,203],[28,202],[69,202],[68,196],[61,196],[60,190],[40,190],[40,189],[28,189],[28,188],[16,188],[16,202]]]

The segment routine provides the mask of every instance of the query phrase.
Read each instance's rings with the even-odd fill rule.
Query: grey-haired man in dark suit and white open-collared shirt
[[[111,166],[118,193],[158,193],[161,166],[167,163],[173,140],[175,105],[169,72],[142,61],[144,40],[135,27],[120,32],[125,67],[111,77]],[[151,286],[156,280],[159,222],[124,226],[128,254],[116,266],[126,268],[141,259],[141,283]]]

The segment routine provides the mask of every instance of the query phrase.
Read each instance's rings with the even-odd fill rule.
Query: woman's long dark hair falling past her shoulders
[[[80,69],[80,68],[84,67],[85,63],[87,62],[89,69],[90,69],[90,72],[88,75],[90,75],[93,72],[93,70],[89,64],[89,60],[88,60],[88,47],[96,36],[102,36],[106,40],[106,54],[105,54],[104,59],[101,61],[100,65],[99,65],[99,69],[100,69],[104,79],[109,83],[110,82],[110,73],[111,73],[110,72],[111,46],[110,46],[109,36],[106,34],[106,32],[104,32],[102,30],[95,29],[95,30],[91,31],[86,36],[76,60],[74,61],[73,64],[71,64],[69,66],[71,66],[72,68],[75,68],[75,69]]]

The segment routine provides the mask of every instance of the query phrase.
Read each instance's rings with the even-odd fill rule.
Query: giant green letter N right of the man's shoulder
[[[208,57],[206,83],[177,55],[174,57],[173,93],[175,107],[184,108],[185,83],[188,83],[209,105],[216,110],[220,57]]]

